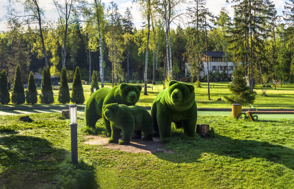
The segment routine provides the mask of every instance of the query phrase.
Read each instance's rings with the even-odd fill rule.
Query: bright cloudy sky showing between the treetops
[[[142,18],[141,18],[141,14],[139,12],[139,9],[137,7],[136,4],[133,4],[133,2],[131,0],[113,0],[117,5],[118,5],[118,9],[121,13],[121,15],[124,15],[124,11],[126,10],[127,7],[131,8],[131,13],[133,15],[134,18],[134,24],[136,26],[136,28],[140,28],[140,26],[142,26]],[[284,5],[285,2],[288,2],[288,0],[273,0],[273,4],[275,4],[275,8],[278,11],[278,15],[283,15],[283,10],[284,10]],[[61,1],[62,2],[62,1]],[[64,2],[64,1],[63,1]],[[102,0],[103,3],[105,3],[106,7],[109,4],[110,0]],[[188,2],[185,5],[182,5],[179,10],[180,11],[185,11],[187,6],[188,6]],[[8,2],[7,0],[0,0],[0,18],[3,18],[3,16],[6,13],[6,9],[4,8],[4,6],[7,6]],[[218,15],[220,12],[220,9],[222,7],[226,7],[229,11],[229,16],[233,18],[233,9],[231,7],[231,3],[226,3],[225,0],[206,0],[206,5],[208,6],[209,10],[214,14],[214,15]],[[21,5],[18,3],[15,5],[17,9],[21,9]],[[46,18],[47,19],[52,19],[52,20],[57,20],[58,19],[58,14],[56,12],[56,10],[54,10],[55,5],[53,3],[52,0],[39,0],[39,6],[42,7],[46,12]],[[183,26],[183,24],[181,24]],[[176,25],[173,24],[172,27],[176,27]],[[5,24],[5,20],[1,20],[0,21],[0,31],[6,31],[6,24]]]

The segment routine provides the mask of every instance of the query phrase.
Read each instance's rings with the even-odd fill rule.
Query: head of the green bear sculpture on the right
[[[178,110],[187,110],[195,102],[194,86],[183,82],[170,81],[167,88],[168,104]]]

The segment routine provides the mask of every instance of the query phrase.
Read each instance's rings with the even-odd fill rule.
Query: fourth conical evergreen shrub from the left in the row
[[[54,102],[49,66],[47,68],[43,68],[40,102],[42,104],[51,104]]]

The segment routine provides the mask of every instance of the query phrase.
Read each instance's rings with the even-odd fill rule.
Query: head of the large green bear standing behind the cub
[[[135,105],[140,98],[141,90],[141,85],[122,83],[117,91],[121,98],[121,104],[125,104],[127,106]]]

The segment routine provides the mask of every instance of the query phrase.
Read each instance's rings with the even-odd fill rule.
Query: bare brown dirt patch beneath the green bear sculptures
[[[164,145],[159,142],[159,138],[153,138],[151,141],[144,140],[132,140],[128,145],[119,145],[118,143],[108,143],[109,138],[103,138],[99,136],[93,135],[85,135],[84,136],[87,141],[85,144],[90,145],[104,145],[106,148],[111,148],[114,150],[132,152],[132,153],[146,153],[153,154],[155,152],[166,152],[173,153],[171,150],[166,150]]]

